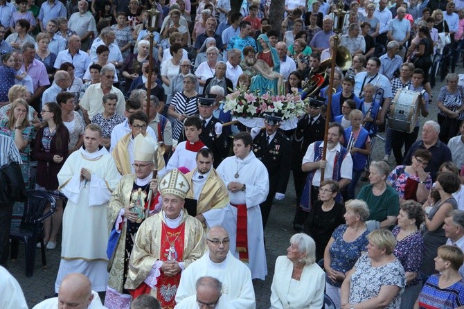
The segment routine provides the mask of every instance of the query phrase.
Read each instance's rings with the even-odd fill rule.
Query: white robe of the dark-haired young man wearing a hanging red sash
[[[224,159],[217,167],[217,173],[224,180],[226,186],[229,186],[230,182],[246,185],[245,191],[235,193],[229,191],[229,197],[231,204],[247,205],[249,263],[246,265],[251,270],[252,279],[264,280],[267,275],[267,263],[260,203],[266,200],[267,193],[269,193],[267,169],[260,160],[256,159],[255,154],[250,152],[245,159],[235,156]],[[235,175],[238,177],[235,178]],[[225,214],[222,225],[229,232],[230,251],[238,258],[239,254],[236,251],[237,208],[231,204],[224,207]]]

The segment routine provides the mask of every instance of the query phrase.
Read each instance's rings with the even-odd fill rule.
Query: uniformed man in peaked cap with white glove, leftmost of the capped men
[[[202,121],[202,133],[199,139],[211,149],[214,154],[214,168],[227,157],[229,148],[227,147],[227,136],[222,132],[222,121],[213,116],[216,104],[215,94],[198,95],[199,118]]]

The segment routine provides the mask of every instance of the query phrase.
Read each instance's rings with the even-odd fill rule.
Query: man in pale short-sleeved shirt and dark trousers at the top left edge
[[[68,28],[80,36],[82,49],[87,51],[91,41],[92,34],[97,33],[95,18],[89,12],[89,3],[85,0],[80,0],[78,3],[79,12],[73,13],[69,17]]]

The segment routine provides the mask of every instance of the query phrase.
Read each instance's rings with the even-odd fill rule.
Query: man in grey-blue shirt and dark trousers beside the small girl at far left
[[[40,106],[40,97],[44,93],[46,87],[50,85],[48,74],[46,73],[45,65],[35,59],[35,46],[32,43],[24,43],[23,48],[24,63],[21,67],[23,72],[28,73],[28,76],[33,80],[34,94],[30,96],[28,103],[32,105],[35,110],[42,110]]]

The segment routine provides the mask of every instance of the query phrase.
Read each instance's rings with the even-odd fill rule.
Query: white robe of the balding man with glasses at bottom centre
[[[177,289],[176,302],[195,295],[195,283],[203,276],[211,276],[222,282],[221,299],[226,308],[256,308],[251,272],[230,251],[222,263],[213,263],[208,251],[202,258],[186,267]]]

